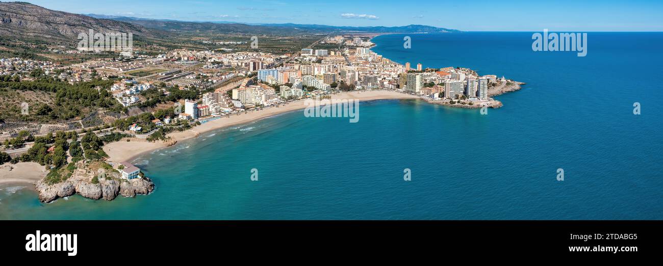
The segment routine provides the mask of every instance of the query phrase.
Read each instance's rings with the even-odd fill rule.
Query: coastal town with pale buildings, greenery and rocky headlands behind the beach
[[[10,101],[9,92],[4,95],[3,105],[13,115],[0,117],[0,177],[21,181],[13,177],[29,172],[27,180],[36,181],[43,202],[74,194],[106,200],[133,197],[154,189],[151,179],[127,162],[141,152],[172,146],[206,130],[303,109],[303,99],[421,99],[485,109],[501,107],[493,97],[523,84],[464,67],[398,64],[371,50],[375,35],[324,36],[286,54],[174,49],[68,66],[1,58],[5,87],[38,88],[22,93],[17,97],[21,101]],[[46,86],[44,82],[79,91],[60,95],[65,93],[39,87]],[[67,97],[91,97],[93,103],[63,111],[44,104],[46,97],[63,97],[62,103],[70,100]]]

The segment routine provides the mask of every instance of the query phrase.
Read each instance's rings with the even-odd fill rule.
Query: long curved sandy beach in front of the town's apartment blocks
[[[420,97],[408,95],[405,93],[398,93],[396,91],[354,91],[332,95],[331,99],[357,99],[359,101],[373,101],[381,99],[420,99]],[[280,107],[269,107],[260,111],[251,111],[246,114],[241,113],[229,117],[222,117],[211,122],[206,122],[200,126],[196,126],[191,130],[186,130],[184,132],[174,132],[168,134],[168,136],[170,136],[173,140],[180,142],[182,140],[196,138],[200,134],[211,130],[217,130],[219,128],[225,128],[237,124],[245,124],[255,120],[260,120],[262,118],[267,118],[269,116],[274,116],[276,114],[304,109],[304,107],[304,101],[296,101],[287,103],[285,105],[280,105]],[[131,159],[141,154],[152,152],[153,150],[158,150],[167,146],[168,145],[163,142],[146,142],[144,140],[141,142],[120,141],[103,146],[103,151],[109,155],[109,161],[121,162],[131,161]]]

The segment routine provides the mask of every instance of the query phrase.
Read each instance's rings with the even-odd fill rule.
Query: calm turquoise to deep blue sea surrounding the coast
[[[372,101],[354,124],[298,111],[209,132],[136,161],[152,195],[42,204],[5,187],[0,218],[663,218],[662,33],[590,32],[584,58],[532,52],[526,32],[410,36],[410,50],[398,34],[373,50],[528,84],[487,115]]]

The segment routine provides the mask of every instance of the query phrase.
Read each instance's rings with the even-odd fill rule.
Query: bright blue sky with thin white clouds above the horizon
[[[541,3],[540,3],[541,2]],[[663,1],[32,0],[70,13],[182,21],[403,26],[487,31],[663,31]]]

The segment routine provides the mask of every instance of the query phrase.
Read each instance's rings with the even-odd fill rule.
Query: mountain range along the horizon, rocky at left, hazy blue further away
[[[330,32],[457,32],[434,26],[328,26],[319,24],[246,24],[229,21],[174,21],[111,15],[80,15],[25,2],[0,2],[0,36],[74,42],[80,32],[133,32],[138,38],[172,34],[328,34]]]

